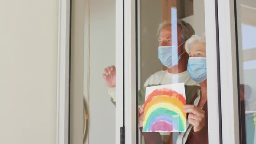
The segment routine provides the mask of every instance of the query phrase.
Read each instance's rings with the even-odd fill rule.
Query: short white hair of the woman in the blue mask
[[[193,35],[189,39],[187,39],[185,43],[185,49],[187,53],[190,53],[191,47],[194,45],[194,43],[200,42],[200,43],[205,43],[205,34],[201,35]]]

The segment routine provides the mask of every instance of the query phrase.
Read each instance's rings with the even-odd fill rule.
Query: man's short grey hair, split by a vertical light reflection
[[[171,28],[171,21],[164,21],[159,25],[158,37],[161,31],[166,27]],[[184,20],[177,20],[177,27],[181,28],[181,43],[185,42],[187,39],[189,39],[192,35],[195,34],[193,27]]]

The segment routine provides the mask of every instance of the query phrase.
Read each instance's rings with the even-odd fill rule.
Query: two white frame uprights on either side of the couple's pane
[[[118,0],[116,0],[118,1]],[[121,0],[119,0],[121,1]],[[215,2],[205,0],[209,144],[220,143]],[[125,0],[125,144],[136,144],[135,0]],[[119,11],[118,11],[119,10]],[[116,13],[121,13],[118,9]],[[121,21],[116,17],[116,21]],[[210,88],[209,88],[210,87]],[[117,135],[118,136],[118,135]],[[116,141],[118,144],[118,141]]]

